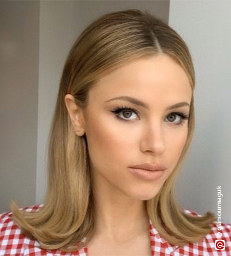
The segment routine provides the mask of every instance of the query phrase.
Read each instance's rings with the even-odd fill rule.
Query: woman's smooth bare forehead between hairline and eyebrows
[[[137,94],[144,98],[191,98],[190,81],[184,69],[166,54],[146,57],[115,69],[98,79],[92,91],[94,98],[107,98],[125,94]],[[177,100],[177,99],[176,99]]]

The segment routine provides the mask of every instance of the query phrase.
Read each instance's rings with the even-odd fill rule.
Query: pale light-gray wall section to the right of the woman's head
[[[196,130],[176,188],[185,208],[231,223],[231,1],[171,1],[169,24],[190,47],[196,71]]]

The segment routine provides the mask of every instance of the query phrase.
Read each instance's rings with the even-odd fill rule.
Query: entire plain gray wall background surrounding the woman
[[[182,207],[231,223],[231,1],[1,1],[0,212],[43,203],[47,137],[67,53],[99,16],[150,10],[190,48],[196,71],[196,130],[176,184]]]

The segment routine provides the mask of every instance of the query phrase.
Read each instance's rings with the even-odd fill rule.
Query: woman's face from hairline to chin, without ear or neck
[[[114,99],[122,96],[147,107]],[[136,60],[98,80],[89,91],[84,121],[95,186],[138,200],[156,196],[187,140],[188,120],[182,116],[189,115],[191,96],[184,69],[165,54]],[[168,109],[181,102],[188,105]],[[159,179],[142,179],[129,171],[142,163],[167,169]]]

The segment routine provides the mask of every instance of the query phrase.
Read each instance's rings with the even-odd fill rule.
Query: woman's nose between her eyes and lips
[[[165,151],[164,129],[160,123],[147,125],[146,129],[143,130],[140,149],[142,152],[151,151],[156,155]]]

